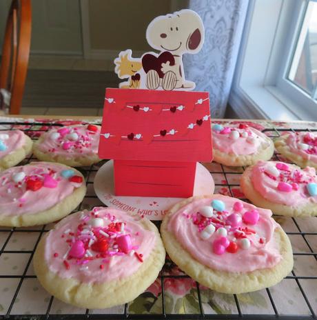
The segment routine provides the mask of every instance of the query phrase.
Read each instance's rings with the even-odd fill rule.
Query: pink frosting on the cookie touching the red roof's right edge
[[[232,131],[239,133],[237,139],[232,137]],[[222,131],[213,129],[212,143],[214,149],[231,154],[254,154],[260,146],[263,148],[269,146],[265,134],[247,125],[239,128],[238,124],[227,125]]]

